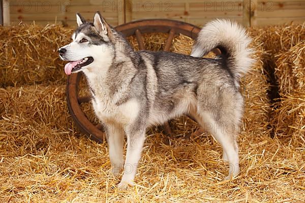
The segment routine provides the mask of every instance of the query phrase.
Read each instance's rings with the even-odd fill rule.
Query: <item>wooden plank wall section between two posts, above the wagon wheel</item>
[[[215,18],[243,22],[243,2],[228,0],[128,0],[126,20],[168,18],[203,25]],[[132,9],[129,9],[132,5]]]

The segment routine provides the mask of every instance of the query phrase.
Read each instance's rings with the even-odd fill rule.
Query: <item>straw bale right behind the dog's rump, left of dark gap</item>
[[[251,133],[268,133],[269,124],[269,83],[264,74],[263,55],[266,54],[253,40],[251,47],[255,50],[253,59],[255,63],[249,72],[241,78],[241,93],[245,101],[245,112],[243,113],[242,130]]]

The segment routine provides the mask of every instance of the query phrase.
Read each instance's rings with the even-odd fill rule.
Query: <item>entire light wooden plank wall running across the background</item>
[[[246,26],[305,21],[305,0],[11,0],[10,21],[75,26],[75,13],[92,20],[99,10],[113,26],[139,19],[167,18],[202,26],[229,18]],[[6,4],[7,5],[7,4]]]

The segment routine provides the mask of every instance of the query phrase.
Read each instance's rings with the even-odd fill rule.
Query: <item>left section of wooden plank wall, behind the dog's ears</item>
[[[38,24],[47,24],[56,21],[67,26],[75,26],[76,12],[80,12],[87,20],[93,20],[94,13],[98,10],[110,24],[123,24],[123,5],[120,0],[12,0],[9,7],[12,23],[35,21]]]

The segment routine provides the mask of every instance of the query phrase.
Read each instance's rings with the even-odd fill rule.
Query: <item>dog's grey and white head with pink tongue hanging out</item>
[[[90,23],[76,14],[78,28],[72,35],[70,44],[58,49],[59,57],[70,61],[65,65],[65,73],[77,73],[90,67],[100,67],[109,63],[112,55],[113,29],[106,23],[100,12],[95,13]]]

